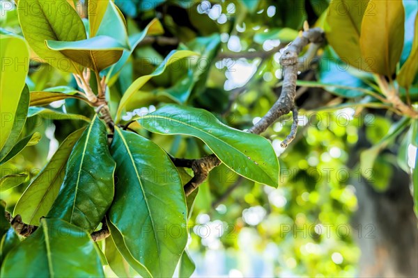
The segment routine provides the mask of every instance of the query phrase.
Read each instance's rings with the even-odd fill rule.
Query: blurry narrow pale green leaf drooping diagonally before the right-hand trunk
[[[399,133],[401,133],[405,126],[408,126],[410,119],[408,117],[403,117],[402,120],[396,122],[391,126],[389,132],[385,137],[380,140],[376,145],[373,145],[370,149],[366,149],[360,154],[360,168],[364,177],[370,177],[370,174],[366,174],[367,171],[373,169],[373,164],[376,161],[379,153],[382,149],[385,149],[390,142],[392,142]]]

